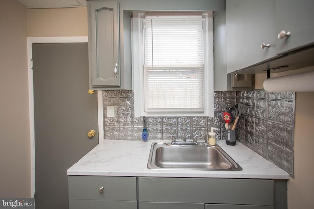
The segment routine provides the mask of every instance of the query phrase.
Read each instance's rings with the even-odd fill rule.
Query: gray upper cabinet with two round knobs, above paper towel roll
[[[313,0],[226,0],[227,73],[313,66],[313,8]]]

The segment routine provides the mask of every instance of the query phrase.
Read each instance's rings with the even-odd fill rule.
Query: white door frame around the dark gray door
[[[35,118],[34,118],[34,81],[32,69],[32,44],[34,43],[88,43],[88,36],[27,37],[27,70],[29,101],[29,134],[30,134],[30,182],[31,197],[35,195]],[[86,90],[87,91],[87,90]],[[104,136],[103,96],[97,91],[98,143]],[[82,156],[83,157],[83,156]]]

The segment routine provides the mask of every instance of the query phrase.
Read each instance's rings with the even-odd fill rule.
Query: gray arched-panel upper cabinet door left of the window
[[[90,88],[120,86],[119,2],[88,2]]]

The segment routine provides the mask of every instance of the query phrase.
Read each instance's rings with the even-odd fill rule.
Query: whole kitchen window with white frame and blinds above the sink
[[[213,116],[212,18],[142,14],[132,35],[135,117]]]

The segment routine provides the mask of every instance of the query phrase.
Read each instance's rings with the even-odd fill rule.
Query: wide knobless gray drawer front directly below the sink
[[[139,201],[274,204],[273,180],[139,178]]]

